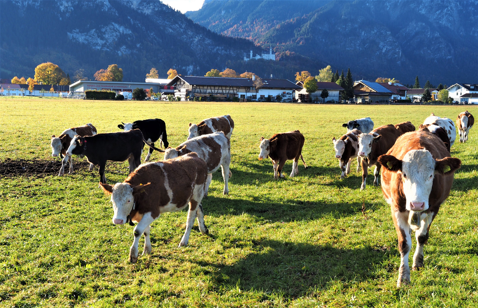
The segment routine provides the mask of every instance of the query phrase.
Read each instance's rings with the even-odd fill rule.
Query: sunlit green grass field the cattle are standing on
[[[121,121],[161,118],[171,146],[185,141],[189,122],[230,114],[236,126],[229,195],[217,172],[203,199],[210,235],[196,222],[189,245],[178,248],[186,211],[166,213],[152,223],[152,254],[137,264],[127,263],[133,228],[111,223],[98,170],[79,166],[79,157],[72,175],[0,177],[0,307],[478,306],[478,128],[452,147],[462,168],[430,229],[424,269],[400,289],[390,207],[373,176],[359,190],[356,162],[340,179],[331,142],[352,119],[418,126],[431,112],[455,121],[465,109],[2,98],[0,170],[7,161],[58,159],[50,136],[88,122],[117,132]],[[289,178],[289,161],[285,179],[275,181],[271,161],[257,159],[259,138],[295,129],[305,136],[310,168],[299,165]],[[127,163],[106,169],[110,184],[128,175]]]

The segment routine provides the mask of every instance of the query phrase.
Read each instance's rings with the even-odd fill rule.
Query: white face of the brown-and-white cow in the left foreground
[[[123,225],[126,218],[133,209],[134,197],[133,187],[128,183],[116,183],[113,186],[111,194],[111,202],[113,203],[113,223],[115,225]]]

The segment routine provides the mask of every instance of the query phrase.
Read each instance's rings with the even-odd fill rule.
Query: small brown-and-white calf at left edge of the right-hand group
[[[343,135],[338,140],[332,138],[334,143],[335,157],[339,159],[339,167],[342,170],[340,178],[344,178],[350,173],[350,164],[352,159],[357,157],[357,172],[359,172],[360,157],[359,157],[359,139],[357,136],[361,134],[358,129],[354,129],[349,133]]]

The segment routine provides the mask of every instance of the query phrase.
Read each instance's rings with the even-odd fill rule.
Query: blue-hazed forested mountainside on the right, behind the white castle
[[[350,67],[354,79],[478,81],[477,0],[211,0],[188,15],[278,55]]]

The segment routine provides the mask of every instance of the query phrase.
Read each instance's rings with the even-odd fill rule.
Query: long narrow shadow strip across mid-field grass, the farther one
[[[300,199],[285,199],[281,202],[267,198],[267,196],[254,196],[252,200],[229,199],[208,196],[202,201],[206,215],[240,215],[247,213],[258,220],[288,222],[296,220],[315,220],[324,216],[340,218],[356,215],[362,210],[362,202],[353,203],[325,203],[312,202]],[[365,200],[368,212],[378,209],[377,204]]]

